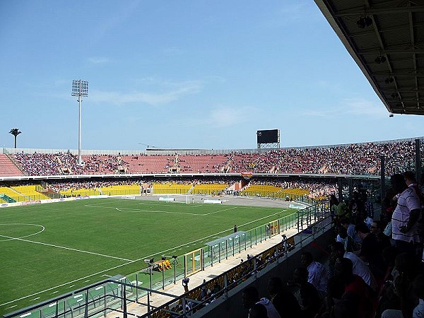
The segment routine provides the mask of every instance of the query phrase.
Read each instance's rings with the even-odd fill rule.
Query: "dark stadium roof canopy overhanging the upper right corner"
[[[387,110],[424,114],[424,0],[315,0]]]

